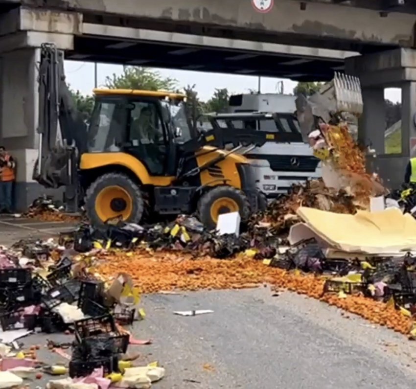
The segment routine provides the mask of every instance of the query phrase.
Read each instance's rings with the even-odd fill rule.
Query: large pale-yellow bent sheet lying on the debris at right
[[[328,246],[344,252],[377,254],[416,250],[416,220],[397,208],[345,215],[300,207],[297,213],[311,230],[310,236],[316,234]]]

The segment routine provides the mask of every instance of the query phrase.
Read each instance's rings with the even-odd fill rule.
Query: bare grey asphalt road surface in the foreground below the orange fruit
[[[143,297],[146,319],[134,325],[131,345],[140,362],[159,361],[166,377],[160,389],[351,389],[414,388],[415,343],[365,320],[346,317],[337,308],[269,288],[194,292]],[[174,310],[212,309],[195,317]],[[70,341],[70,335],[49,336]],[[33,335],[26,344],[44,344]],[[63,362],[46,349],[38,358]],[[204,365],[212,366],[207,370]],[[31,388],[45,387],[35,380]]]

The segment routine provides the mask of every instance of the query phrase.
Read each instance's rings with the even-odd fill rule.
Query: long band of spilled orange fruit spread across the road
[[[411,318],[383,302],[360,295],[341,298],[337,294],[324,294],[324,279],[319,276],[286,272],[253,259],[194,260],[190,254],[175,252],[112,252],[107,255],[108,260],[101,258],[94,271],[106,279],[127,273],[141,293],[242,289],[269,284],[276,290],[285,288],[319,299],[402,334],[409,334],[413,324]]]

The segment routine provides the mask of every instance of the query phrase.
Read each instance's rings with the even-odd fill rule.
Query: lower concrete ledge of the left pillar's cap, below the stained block
[[[73,35],[48,32],[21,31],[0,37],[0,54],[28,47],[40,47],[45,42],[54,43],[60,50],[73,49]]]

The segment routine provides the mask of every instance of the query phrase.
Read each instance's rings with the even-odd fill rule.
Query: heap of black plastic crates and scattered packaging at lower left
[[[148,388],[163,377],[162,367],[133,366],[131,358],[124,361],[129,344],[151,343],[134,339],[121,326],[145,317],[139,307],[138,289],[129,275],[118,274],[112,283],[106,284],[80,267],[86,257],[52,240],[20,241],[1,251],[0,259],[0,338],[11,343],[11,346],[0,344],[2,370],[9,373],[5,388],[21,385],[28,378],[29,367],[33,379],[40,379],[43,373],[68,373],[71,377],[66,379],[68,384],[95,376],[98,381],[108,380],[109,384],[124,382],[124,388],[144,387],[141,384]],[[73,333],[73,342],[50,340],[47,345],[50,351],[68,357],[69,364],[44,366],[37,361],[39,346],[31,346],[27,352],[20,350],[14,340],[22,331]],[[67,348],[70,355],[64,351]],[[119,379],[115,380],[115,375]],[[59,385],[55,381],[50,387]]]

